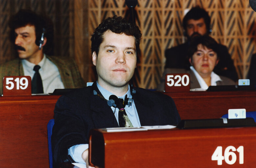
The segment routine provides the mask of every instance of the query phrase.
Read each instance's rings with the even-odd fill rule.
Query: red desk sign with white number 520
[[[189,92],[189,74],[166,74],[165,92]]]

